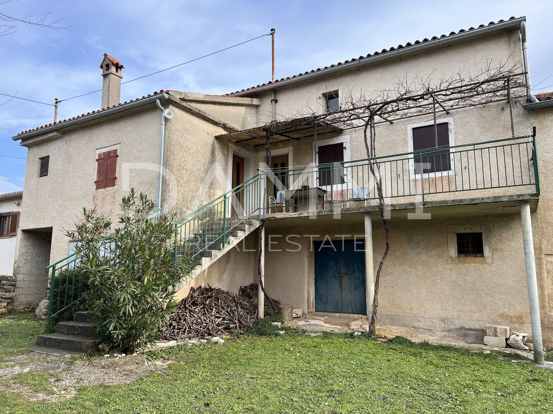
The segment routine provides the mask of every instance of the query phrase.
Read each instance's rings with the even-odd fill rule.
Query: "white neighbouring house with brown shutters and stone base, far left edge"
[[[22,201],[22,191],[0,194],[0,313],[15,295],[13,259]]]

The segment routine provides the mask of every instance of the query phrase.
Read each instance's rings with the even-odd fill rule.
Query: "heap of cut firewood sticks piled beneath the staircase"
[[[280,302],[265,295],[265,316],[278,313]],[[191,288],[169,323],[159,330],[162,341],[207,339],[245,330],[257,319],[257,283],[241,286],[238,295],[222,289]]]

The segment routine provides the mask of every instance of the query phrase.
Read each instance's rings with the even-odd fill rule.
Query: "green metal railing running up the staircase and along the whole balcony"
[[[216,243],[224,248],[233,229],[262,213],[333,210],[338,204],[348,207],[377,200],[371,163],[380,168],[382,190],[388,200],[413,197],[424,204],[425,197],[432,194],[469,190],[491,190],[497,194],[494,190],[523,186],[540,194],[535,129],[529,135],[508,139],[430,148],[372,160],[279,171],[260,169],[259,174],[175,222],[175,259],[183,252],[198,257]],[[116,255],[111,252],[109,238],[103,243],[109,254]],[[75,253],[48,266],[46,273],[50,278],[50,332],[53,316],[79,301],[85,286]]]

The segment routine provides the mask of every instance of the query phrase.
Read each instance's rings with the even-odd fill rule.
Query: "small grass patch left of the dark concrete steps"
[[[36,344],[46,323],[36,319],[34,312],[0,316],[0,366],[10,355],[25,352],[24,347]]]

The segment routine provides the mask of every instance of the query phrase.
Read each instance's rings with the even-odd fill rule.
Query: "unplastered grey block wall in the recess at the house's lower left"
[[[15,266],[14,301],[16,310],[36,306],[46,297],[50,264],[51,232],[27,231],[19,233],[19,253]]]

